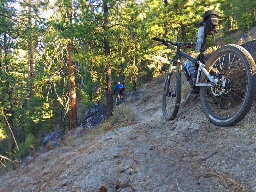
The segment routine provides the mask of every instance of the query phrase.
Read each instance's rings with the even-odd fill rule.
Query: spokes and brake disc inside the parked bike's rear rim
[[[212,67],[216,67],[223,74],[225,87],[223,89],[205,87],[204,98],[208,108],[216,117],[229,118],[236,114],[245,97],[247,87],[245,64],[236,53],[228,52],[216,58],[210,68]]]

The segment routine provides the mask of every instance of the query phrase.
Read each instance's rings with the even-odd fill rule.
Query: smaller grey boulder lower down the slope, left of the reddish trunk
[[[51,132],[44,137],[42,148],[40,152],[46,152],[60,145],[60,141],[63,139],[64,133],[61,129]]]

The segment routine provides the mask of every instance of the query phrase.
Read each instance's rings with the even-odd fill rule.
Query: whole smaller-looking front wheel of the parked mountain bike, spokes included
[[[167,92],[166,92],[167,89]],[[176,117],[181,99],[181,80],[178,71],[172,71],[170,74],[170,84],[168,87],[168,78],[164,83],[164,92],[162,97],[162,109],[164,118],[172,120]]]

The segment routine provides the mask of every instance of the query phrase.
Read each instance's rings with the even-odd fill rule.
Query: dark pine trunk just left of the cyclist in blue
[[[103,1],[103,12],[104,12],[104,30],[108,31],[108,1]],[[110,47],[108,38],[105,36],[104,41],[104,53],[106,56],[106,99],[107,99],[107,118],[112,115],[113,111],[113,95],[112,95],[112,79],[111,79],[111,64],[109,63],[108,57],[110,53]]]

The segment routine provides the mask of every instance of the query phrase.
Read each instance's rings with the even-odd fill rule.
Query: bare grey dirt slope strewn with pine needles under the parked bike
[[[173,121],[161,112],[163,81],[127,107],[137,124],[79,138],[0,177],[0,191],[255,191],[255,106],[218,127],[195,95]]]

